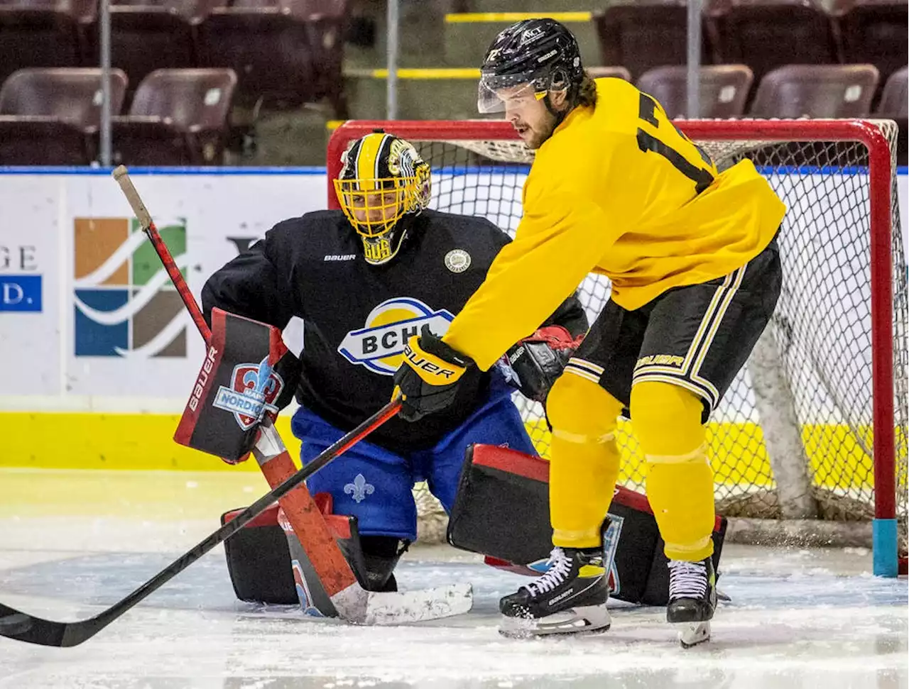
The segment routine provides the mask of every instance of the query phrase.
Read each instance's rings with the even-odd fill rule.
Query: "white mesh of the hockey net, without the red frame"
[[[771,326],[708,426],[717,506],[729,517],[820,517],[863,522],[874,512],[872,438],[871,219],[869,155],[851,141],[699,141],[720,169],[754,161],[789,211],[780,234],[784,287]],[[894,123],[876,123],[895,148]],[[533,153],[508,140],[415,142],[433,168],[433,207],[481,215],[514,233]],[[894,384],[897,513],[909,513],[909,312],[893,185]],[[593,321],[609,284],[580,288]],[[546,456],[542,408],[515,395],[534,444]],[[787,441],[788,439],[788,441]],[[620,481],[643,489],[644,462],[620,426]],[[426,534],[444,533],[441,507],[417,487]],[[441,527],[439,525],[442,525]]]

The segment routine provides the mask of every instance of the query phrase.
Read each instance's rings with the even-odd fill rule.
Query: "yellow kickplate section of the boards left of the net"
[[[0,413],[0,467],[258,471],[254,459],[232,467],[174,441],[178,414]],[[290,417],[275,424],[291,457],[300,442]]]

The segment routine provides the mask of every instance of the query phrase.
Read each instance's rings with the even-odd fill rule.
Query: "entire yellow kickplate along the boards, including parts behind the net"
[[[0,412],[5,438],[0,467],[257,470],[252,461],[231,467],[211,455],[177,445],[173,437],[179,418],[178,414]],[[526,426],[537,450],[549,458],[551,438],[545,421],[531,420]],[[290,417],[279,417],[277,428],[291,456],[298,458],[299,442],[290,432]],[[716,485],[773,485],[764,435],[756,423],[711,421],[706,428]],[[105,438],[102,433],[112,435]],[[860,438],[855,438],[845,424],[804,424],[802,440],[815,472],[815,485],[874,488],[874,463],[863,449],[871,447],[871,428],[863,426],[858,433]],[[902,428],[896,428],[896,433],[897,438],[904,438]],[[136,438],[143,440],[140,443]],[[630,421],[619,419],[616,441],[622,455],[619,483],[642,484],[644,454]],[[909,442],[900,439],[897,447],[907,448]],[[904,449],[896,459],[901,463],[909,460]]]

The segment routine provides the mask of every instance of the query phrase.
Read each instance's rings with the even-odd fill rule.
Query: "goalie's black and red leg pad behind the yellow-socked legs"
[[[448,542],[487,556],[487,564],[538,576],[552,550],[549,462],[508,448],[468,448],[448,522]],[[666,605],[669,572],[663,539],[647,498],[616,487],[604,532],[604,561],[615,598]],[[605,526],[605,525],[604,525]],[[714,568],[726,529],[714,525]]]

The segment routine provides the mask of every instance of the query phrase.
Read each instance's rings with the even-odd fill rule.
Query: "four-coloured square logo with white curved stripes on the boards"
[[[185,271],[185,221],[159,231]],[[138,221],[76,218],[73,249],[75,356],[186,356],[188,315]]]

